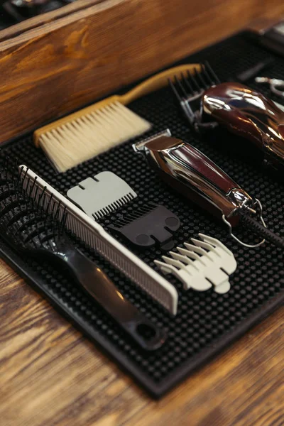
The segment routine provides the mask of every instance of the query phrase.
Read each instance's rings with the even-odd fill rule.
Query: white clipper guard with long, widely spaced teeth
[[[155,264],[164,273],[172,273],[185,290],[192,288],[205,291],[214,287],[216,293],[227,293],[230,289],[229,275],[236,271],[234,254],[218,239],[199,234],[200,240],[191,239],[185,249],[177,247],[179,253],[170,251],[171,257],[162,256],[163,261]]]

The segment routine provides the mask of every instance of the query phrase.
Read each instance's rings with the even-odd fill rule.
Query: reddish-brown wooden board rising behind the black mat
[[[2,33],[0,141],[145,77],[256,18],[284,13],[281,0],[76,4]]]

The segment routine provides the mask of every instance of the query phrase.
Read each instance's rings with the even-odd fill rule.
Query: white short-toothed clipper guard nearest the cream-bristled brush
[[[137,197],[125,180],[112,172],[98,173],[67,191],[67,197],[95,220]]]

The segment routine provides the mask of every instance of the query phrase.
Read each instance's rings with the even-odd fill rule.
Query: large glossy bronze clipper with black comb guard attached
[[[192,129],[223,126],[251,141],[266,164],[283,168],[284,112],[271,99],[238,82],[221,83],[208,63],[170,86]]]

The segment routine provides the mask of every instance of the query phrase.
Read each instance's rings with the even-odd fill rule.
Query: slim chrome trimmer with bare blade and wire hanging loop
[[[261,202],[253,199],[202,152],[189,143],[173,138],[169,129],[135,143],[133,150],[143,153],[151,168],[168,185],[222,219],[240,244],[248,247],[263,244],[264,239],[258,244],[244,244],[231,233],[231,227],[236,226],[241,217],[249,217],[258,228],[261,226],[262,231],[258,229],[258,235],[263,236],[263,229],[268,231],[263,222]],[[260,219],[261,223],[256,219]],[[266,238],[269,239],[269,236],[266,235]],[[280,244],[284,246],[282,239]]]

